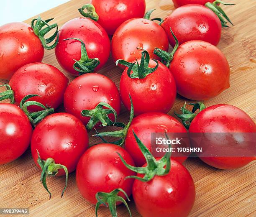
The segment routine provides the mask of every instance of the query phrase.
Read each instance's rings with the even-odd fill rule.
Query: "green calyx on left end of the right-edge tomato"
[[[189,110],[186,109],[186,105],[193,105],[192,111],[190,112]],[[182,111],[182,114],[177,114],[174,112],[174,114],[179,117],[179,119],[182,120],[183,125],[185,128],[189,129],[189,126],[192,122],[192,120],[197,116],[198,113],[195,113],[197,110],[201,112],[202,110],[205,109],[205,105],[202,102],[197,102],[197,103],[184,103],[184,106],[180,108]]]

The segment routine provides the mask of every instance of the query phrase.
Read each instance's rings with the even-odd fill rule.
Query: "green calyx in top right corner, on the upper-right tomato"
[[[229,27],[229,26],[227,26],[227,23],[230,23],[232,26],[234,26],[233,23],[231,22],[231,20],[228,18],[228,16],[224,12],[224,10],[222,10],[222,8],[220,8],[219,4],[235,5],[235,4],[225,3],[225,2],[223,2],[221,0],[216,0],[213,3],[210,3],[210,2],[205,3],[205,7],[209,8],[210,10],[212,10],[218,16],[218,18],[220,19],[220,22],[221,22],[221,26]]]

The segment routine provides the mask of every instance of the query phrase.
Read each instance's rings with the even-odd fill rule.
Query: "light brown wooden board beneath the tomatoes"
[[[55,17],[55,22],[61,27],[72,18],[79,17],[77,8],[89,0],[72,0],[57,8],[41,13],[43,19]],[[174,6],[171,0],[146,0],[147,10],[156,8],[154,16],[165,17],[172,13]],[[226,0],[234,2],[235,6],[223,6],[234,27],[223,29],[221,41],[218,47],[226,55],[230,64],[230,88],[218,97],[208,100],[207,106],[218,103],[227,103],[240,107],[256,120],[255,96],[256,96],[256,1],[252,0]],[[30,23],[31,19],[26,20]],[[63,69],[56,61],[54,50],[46,51],[44,63],[56,66],[62,72]],[[112,59],[99,73],[110,77],[117,86],[121,70],[115,67]],[[70,80],[74,77],[65,73]],[[178,96],[177,101],[169,112],[173,115],[184,102],[184,98]],[[128,112],[122,107],[119,116],[120,121],[128,120]],[[61,110],[61,109],[60,109]],[[91,138],[90,144],[99,140]],[[191,173],[196,185],[196,201],[190,213],[190,217],[245,217],[256,216],[256,163],[251,163],[244,168],[233,171],[222,171],[207,166],[197,158],[190,158],[184,165]],[[23,156],[7,165],[0,166],[0,207],[1,208],[27,208],[29,214],[35,217],[56,216],[73,217],[94,216],[94,206],[87,202],[79,193],[74,172],[70,174],[67,190],[63,198],[60,198],[64,187],[64,177],[48,179],[48,186],[52,192],[49,200],[48,193],[39,183],[41,171],[31,158],[30,150]],[[159,195],[161,197],[161,195]],[[130,202],[131,212],[134,217],[140,216],[136,212],[133,202]],[[109,216],[107,208],[100,208],[100,217]],[[118,207],[119,217],[128,217],[123,205]]]

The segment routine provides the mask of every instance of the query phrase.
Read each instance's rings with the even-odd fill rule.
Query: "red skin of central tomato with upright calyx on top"
[[[135,115],[146,112],[167,113],[174,104],[176,98],[174,77],[164,64],[160,61],[158,63],[156,71],[143,79],[128,77],[128,67],[123,71],[120,80],[121,99],[125,107],[131,110],[129,94],[131,95]],[[156,62],[151,59],[149,67],[154,68],[155,66]]]

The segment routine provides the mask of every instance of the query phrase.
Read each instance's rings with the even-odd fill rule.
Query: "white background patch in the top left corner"
[[[0,26],[19,22],[69,0],[0,0]]]

